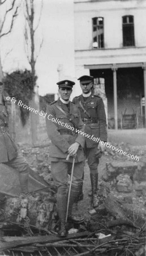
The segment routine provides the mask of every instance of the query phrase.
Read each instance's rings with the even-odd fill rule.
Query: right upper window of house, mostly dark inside
[[[135,46],[134,16],[123,16],[123,46]]]

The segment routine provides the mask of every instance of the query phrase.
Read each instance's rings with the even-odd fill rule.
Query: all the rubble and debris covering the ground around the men
[[[127,144],[121,147],[128,152]],[[47,181],[49,190],[6,196],[0,201],[1,255],[145,256],[145,162],[123,161],[119,153],[107,151],[109,161],[98,186],[98,207],[89,209],[90,219],[83,224],[67,223],[67,237],[61,238],[49,146],[26,146],[22,152],[33,170]],[[130,146],[129,152],[133,154]]]

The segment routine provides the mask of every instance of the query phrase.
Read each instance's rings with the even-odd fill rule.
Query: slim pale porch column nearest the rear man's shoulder
[[[117,104],[117,66],[113,64],[113,82],[114,82],[114,123],[115,130],[118,130],[118,104]]]

